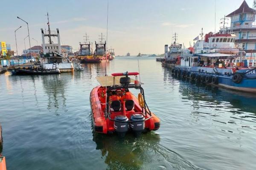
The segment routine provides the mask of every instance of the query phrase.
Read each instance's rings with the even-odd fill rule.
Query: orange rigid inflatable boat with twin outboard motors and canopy
[[[96,133],[115,132],[123,137],[132,131],[135,136],[139,136],[142,132],[159,129],[160,119],[149,110],[137,75],[137,72],[125,72],[96,77],[101,85],[90,93]],[[128,76],[135,76],[135,80]],[[129,91],[131,88],[140,90],[138,99]]]

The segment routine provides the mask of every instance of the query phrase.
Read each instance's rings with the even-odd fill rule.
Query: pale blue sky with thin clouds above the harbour
[[[239,8],[243,0],[216,0],[216,30],[220,19]],[[252,7],[253,0],[247,0]],[[51,29],[59,28],[63,45],[78,50],[79,42],[87,33],[90,41],[98,41],[101,32],[106,35],[107,0],[4,0],[1,2],[0,41],[15,48],[14,30],[17,31],[19,54],[27,36],[25,23],[29,23],[30,37],[41,44],[40,28],[47,27],[47,11]],[[6,6],[6,8],[3,8]],[[108,47],[116,55],[128,51],[132,55],[163,54],[164,45],[172,42],[177,32],[178,42],[189,47],[189,42],[204,33],[214,31],[215,0],[109,0]],[[31,39],[31,46],[36,41]],[[29,46],[28,39],[26,47]]]

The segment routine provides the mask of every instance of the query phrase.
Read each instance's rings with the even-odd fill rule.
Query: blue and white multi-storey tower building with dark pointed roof
[[[230,27],[223,28],[234,32],[235,42],[247,53],[247,57],[256,56],[256,25],[253,24],[255,15],[256,10],[250,8],[244,0],[238,9],[226,16],[231,18]]]

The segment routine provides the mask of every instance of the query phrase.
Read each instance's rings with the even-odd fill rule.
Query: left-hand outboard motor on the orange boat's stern
[[[115,117],[115,120],[119,122],[114,122],[114,128],[118,136],[124,137],[125,133],[128,132],[129,124],[128,124],[128,117],[124,115],[118,115]]]

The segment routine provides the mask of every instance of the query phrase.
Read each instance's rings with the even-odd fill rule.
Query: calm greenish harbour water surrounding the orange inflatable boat
[[[117,57],[112,72],[138,71]],[[103,64],[82,72],[0,75],[0,122],[8,170],[255,170],[256,96],[192,84],[141,57],[141,81],[159,130],[139,138],[95,135],[89,95]]]

